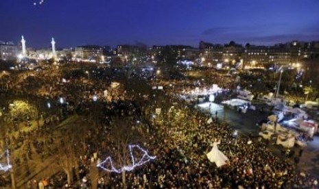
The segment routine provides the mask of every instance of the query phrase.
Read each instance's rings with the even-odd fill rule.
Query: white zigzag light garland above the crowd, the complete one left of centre
[[[143,156],[141,157],[141,160],[139,160],[138,162],[135,162],[135,160],[134,160],[134,155],[132,152],[132,150],[134,148],[137,148],[143,152]],[[130,157],[132,160],[131,166],[123,166],[121,168],[115,168],[115,166],[113,166],[112,157],[108,156],[108,157],[106,157],[106,159],[103,162],[98,163],[97,167],[100,167],[100,168],[104,169],[104,171],[108,171],[108,172],[122,173],[123,171],[133,171],[135,167],[142,166],[143,164],[150,162],[150,160],[154,160],[156,158],[156,156],[148,155],[148,153],[147,153],[147,151],[145,151],[145,149],[142,149],[139,145],[136,145],[136,144],[128,145],[128,150],[130,151]],[[106,165],[106,164],[110,164],[111,169],[105,168],[104,165]]]

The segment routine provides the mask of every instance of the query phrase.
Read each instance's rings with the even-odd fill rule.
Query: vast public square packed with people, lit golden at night
[[[198,100],[180,98],[195,89],[182,80],[157,72],[143,79],[138,68],[128,75],[132,71],[124,68],[84,66],[49,67],[23,72],[22,79],[20,73],[12,77],[1,98],[9,108],[3,118],[19,119],[3,119],[13,126],[2,144],[10,149],[12,165],[11,174],[3,173],[3,186],[14,174],[17,188],[34,188],[39,181],[51,188],[316,187],[318,136],[296,164],[300,148],[287,155],[287,149],[258,136],[256,123],[269,112],[242,113],[217,105],[233,97],[230,90],[217,95],[214,105],[201,99],[203,108],[211,108],[202,112]],[[65,73],[67,78],[60,75]],[[40,77],[45,79],[35,83]],[[214,141],[220,141],[218,148],[229,158],[224,166],[206,158]],[[131,156],[132,144],[139,146]]]

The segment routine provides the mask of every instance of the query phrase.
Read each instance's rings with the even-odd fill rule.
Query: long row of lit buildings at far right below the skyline
[[[307,58],[319,57],[319,42],[292,41],[273,46],[245,47],[230,42],[227,45],[213,45],[200,42],[200,58],[211,64],[241,62],[242,66],[290,65]]]

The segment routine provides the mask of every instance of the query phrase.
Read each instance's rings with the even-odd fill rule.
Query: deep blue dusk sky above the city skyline
[[[34,2],[37,5],[34,5]],[[1,0],[0,40],[27,47],[272,45],[319,40],[319,0]]]

